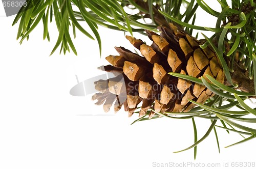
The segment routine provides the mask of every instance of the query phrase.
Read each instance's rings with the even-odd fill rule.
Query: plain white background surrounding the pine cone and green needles
[[[72,52],[59,54],[57,49],[49,57],[58,35],[54,23],[49,25],[50,42],[42,40],[40,22],[29,41],[20,45],[16,40],[18,24],[11,26],[14,16],[5,17],[2,5],[0,11],[1,169],[156,168],[153,162],[220,163],[221,166],[228,162],[231,168],[231,162],[256,162],[255,139],[226,149],[225,146],[243,138],[217,128],[220,154],[212,131],[198,146],[194,160],[193,149],[173,153],[193,144],[191,120],[161,118],[130,125],[137,115],[127,118],[123,110],[105,114],[102,106],[91,101],[91,95],[71,96],[69,91],[77,83],[75,75],[83,81],[102,74],[96,68],[107,64],[104,58],[109,54],[117,54],[114,46],[133,50],[122,32],[99,27],[102,59],[97,42],[78,31],[74,40],[78,56]],[[215,20],[208,14],[200,9],[197,12],[197,25],[215,26]],[[210,121],[196,119],[196,122],[201,138]]]

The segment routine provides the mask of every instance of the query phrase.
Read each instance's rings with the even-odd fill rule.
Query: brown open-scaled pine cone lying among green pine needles
[[[102,70],[116,75],[108,80],[95,82],[100,93],[92,99],[95,104],[103,104],[109,111],[114,103],[118,111],[122,105],[132,116],[141,104],[139,117],[150,112],[152,118],[156,112],[187,112],[195,107],[188,99],[204,103],[214,96],[209,89],[198,83],[177,78],[168,74],[176,72],[189,76],[206,78],[206,74],[219,82],[224,82],[224,72],[216,53],[211,47],[200,48],[202,42],[179,30],[169,23],[169,27],[158,27],[160,35],[146,31],[153,43],[146,45],[140,39],[126,36],[143,57],[123,47],[115,47],[120,55],[110,55],[106,60],[111,65]]]

